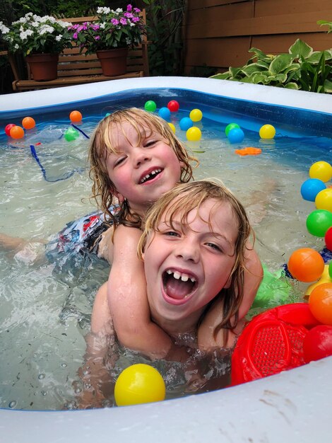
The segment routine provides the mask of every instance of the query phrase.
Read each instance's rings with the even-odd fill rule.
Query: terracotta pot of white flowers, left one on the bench
[[[71,47],[71,34],[65,23],[51,16],[29,12],[9,28],[0,22],[3,40],[9,52],[23,52],[35,80],[57,79],[59,53]]]

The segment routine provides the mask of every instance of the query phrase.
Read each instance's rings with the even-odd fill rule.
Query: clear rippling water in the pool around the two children
[[[165,103],[160,107],[171,99],[177,96],[163,98]],[[143,99],[127,98],[125,105],[143,107],[144,103]],[[200,104],[181,103],[181,110],[172,114],[177,136],[184,142],[179,120]],[[84,108],[79,128],[91,134],[100,118],[114,108],[119,105],[102,103],[99,108],[96,104]],[[292,129],[289,123],[277,121],[275,139],[263,141],[258,129],[273,121],[264,121],[262,115],[248,116],[232,110],[228,116],[225,108],[209,108],[208,104],[202,108],[203,120],[196,123],[202,138],[186,142],[200,161],[195,178],[221,178],[244,203],[256,233],[256,251],[268,269],[279,270],[296,248],[323,248],[323,239],[311,236],[305,228],[305,219],[315,208],[314,203],[302,200],[300,187],[314,161],[331,163],[332,134],[326,128],[316,134],[311,128]],[[40,120],[34,115],[37,127],[28,131],[25,139],[0,138],[0,231],[32,241],[25,254],[0,251],[3,408],[77,407],[77,396],[83,389],[77,371],[83,363],[84,336],[89,330],[95,292],[109,273],[107,263],[95,257],[84,263],[71,261],[61,271],[56,263],[44,258],[35,260],[44,251],[44,246],[35,241],[49,238],[66,223],[95,209],[89,200],[88,139],[83,134],[72,142],[64,139],[68,114],[57,110],[40,115]],[[230,144],[225,136],[225,126],[232,121],[244,129],[240,144]],[[35,146],[39,163],[31,155],[30,144]],[[235,154],[235,149],[245,146],[260,147],[262,153],[243,157]],[[304,284],[290,284],[290,301],[302,300]],[[196,358],[203,359],[200,355]],[[122,350],[113,376],[137,361],[145,360]],[[227,379],[229,355],[215,356],[212,365],[218,367],[218,376]],[[157,367],[167,381],[168,398],[186,395],[183,368],[165,362]]]

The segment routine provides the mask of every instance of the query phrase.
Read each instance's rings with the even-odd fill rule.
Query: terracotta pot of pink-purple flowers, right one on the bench
[[[131,4],[126,11],[117,8],[97,8],[97,20],[69,27],[73,41],[85,50],[96,53],[105,76],[117,76],[126,72],[126,57],[129,47],[135,47],[146,33],[141,10]]]

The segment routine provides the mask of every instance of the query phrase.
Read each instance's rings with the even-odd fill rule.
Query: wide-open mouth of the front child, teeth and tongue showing
[[[167,297],[175,300],[188,299],[198,286],[194,275],[172,269],[162,274],[162,284]]]

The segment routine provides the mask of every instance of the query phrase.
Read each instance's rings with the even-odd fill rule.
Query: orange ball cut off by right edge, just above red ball
[[[312,315],[324,325],[332,325],[332,283],[315,287],[309,295],[309,308]]]

